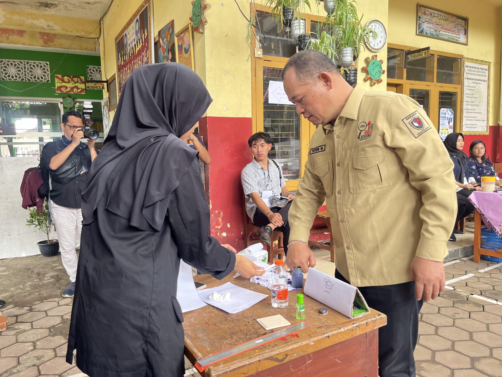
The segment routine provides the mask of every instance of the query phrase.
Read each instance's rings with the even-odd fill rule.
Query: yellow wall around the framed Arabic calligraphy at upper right
[[[468,58],[491,62],[489,124],[496,125],[500,107],[500,38],[502,22],[500,8],[477,0],[423,0],[420,4],[469,18],[467,46],[416,35],[417,2],[389,0],[389,42],[416,48],[461,54]]]

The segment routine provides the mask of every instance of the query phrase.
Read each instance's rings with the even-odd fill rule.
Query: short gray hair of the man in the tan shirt
[[[302,82],[313,82],[321,72],[338,72],[336,65],[324,53],[317,50],[303,50],[294,54],[283,69],[282,79],[289,68],[294,68],[296,77]]]

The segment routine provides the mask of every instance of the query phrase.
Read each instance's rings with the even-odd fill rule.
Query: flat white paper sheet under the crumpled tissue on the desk
[[[227,292],[230,293],[230,302],[218,303],[209,300],[209,296],[213,292],[218,292],[220,295],[223,295]],[[246,290],[245,288],[234,286],[229,282],[219,287],[209,288],[206,290],[199,291],[199,296],[205,303],[212,305],[230,314],[238,313],[241,312],[242,310],[248,309],[253,305],[255,305],[256,303],[269,297],[269,295],[264,295],[263,293],[258,293]]]

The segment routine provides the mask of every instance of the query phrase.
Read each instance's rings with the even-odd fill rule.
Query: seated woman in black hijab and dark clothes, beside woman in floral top
[[[469,216],[474,212],[474,206],[467,199],[474,190],[481,190],[470,173],[469,166],[467,165],[467,155],[462,152],[464,147],[464,135],[461,133],[452,133],[446,136],[444,145],[450,154],[453,161],[453,175],[455,176],[455,183],[457,185],[457,220],[458,223],[463,218]],[[461,232],[460,232],[461,233]],[[450,241],[456,241],[455,231],[451,233]]]

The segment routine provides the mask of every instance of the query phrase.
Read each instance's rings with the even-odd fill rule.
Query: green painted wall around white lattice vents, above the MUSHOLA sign
[[[87,76],[87,65],[101,65],[99,56],[76,55],[59,52],[42,52],[28,50],[0,49],[0,59],[19,60],[39,60],[48,61],[51,70],[51,82],[27,82],[27,81],[5,81],[0,80],[0,96],[8,97],[45,97],[62,98],[66,97],[61,93],[56,93],[54,76],[56,74],[66,74],[71,76]],[[87,77],[86,77],[87,78]],[[32,86],[37,85],[33,88]],[[17,91],[23,90],[23,91]],[[102,100],[102,90],[86,90],[85,95],[70,95],[79,99]]]

